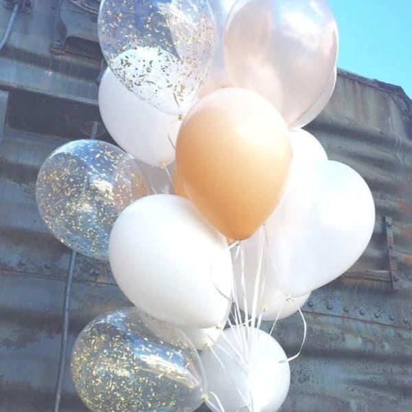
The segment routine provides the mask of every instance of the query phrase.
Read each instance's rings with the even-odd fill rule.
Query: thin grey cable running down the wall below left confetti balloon
[[[63,302],[63,330],[62,340],[60,344],[60,360],[58,364],[58,377],[56,382],[56,396],[54,401],[54,412],[58,412],[60,407],[60,399],[62,397],[63,378],[65,376],[66,356],[67,356],[67,335],[69,332],[69,310],[70,310],[70,293],[71,284],[73,283],[73,269],[76,262],[76,252],[71,251],[69,271],[67,273],[65,300]]]

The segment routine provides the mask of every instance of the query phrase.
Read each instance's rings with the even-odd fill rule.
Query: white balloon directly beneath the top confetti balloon
[[[174,161],[179,117],[141,100],[108,68],[100,82],[99,108],[108,133],[130,155],[158,167]]]

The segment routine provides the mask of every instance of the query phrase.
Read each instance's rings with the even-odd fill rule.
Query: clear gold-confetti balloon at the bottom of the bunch
[[[93,412],[192,412],[206,393],[190,340],[137,308],[91,321],[74,345],[71,374]]]

